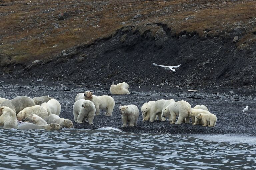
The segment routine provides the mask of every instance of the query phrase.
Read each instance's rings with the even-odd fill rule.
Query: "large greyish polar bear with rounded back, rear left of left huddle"
[[[34,100],[27,96],[18,96],[12,100],[3,101],[0,107],[7,106],[11,108],[16,114],[26,107],[35,106]]]

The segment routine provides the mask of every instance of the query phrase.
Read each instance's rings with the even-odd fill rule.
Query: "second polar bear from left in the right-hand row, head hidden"
[[[175,102],[175,100],[173,100],[173,99],[170,99],[170,100],[160,99],[160,100],[157,100],[155,103],[153,103],[151,110],[150,110],[149,122],[154,122],[156,115],[158,116],[159,121],[165,121],[165,118],[162,117],[162,111],[169,104],[174,103],[174,102]]]

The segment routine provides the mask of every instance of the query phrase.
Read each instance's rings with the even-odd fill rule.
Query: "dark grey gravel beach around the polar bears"
[[[75,86],[63,82],[31,82],[31,80],[9,80],[2,79],[0,85],[1,96],[12,99],[16,96],[25,95],[31,98],[36,96],[50,95],[57,99],[61,106],[60,117],[70,119],[75,128],[97,129],[102,127],[120,128],[126,132],[136,133],[173,133],[173,134],[248,134],[255,136],[255,104],[256,89],[249,88],[191,88],[191,87],[170,87],[164,86],[130,86],[130,95],[110,95],[110,85],[82,85]],[[198,92],[187,92],[188,89],[198,89]],[[94,95],[110,95],[115,99],[115,108],[111,117],[94,117],[94,125],[87,123],[78,124],[74,122],[72,107],[77,93],[91,91]],[[234,93],[230,93],[233,91]],[[191,97],[196,99],[192,99]],[[119,104],[136,105],[140,107],[148,101],[159,99],[174,99],[175,101],[185,100],[194,107],[197,104],[204,104],[211,113],[217,116],[216,127],[202,127],[188,124],[170,125],[166,122],[142,122],[140,113],[136,127],[122,128],[121,115],[118,110]],[[248,105],[249,111],[243,113],[243,108]]]

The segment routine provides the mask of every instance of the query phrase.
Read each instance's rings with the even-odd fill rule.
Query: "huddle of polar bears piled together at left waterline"
[[[47,130],[74,128],[72,121],[59,117],[60,111],[59,101],[49,96],[33,99],[27,96],[18,96],[12,100],[0,98],[0,126]]]

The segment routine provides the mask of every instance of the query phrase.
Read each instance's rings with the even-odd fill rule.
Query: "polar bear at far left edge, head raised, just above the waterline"
[[[0,126],[4,128],[18,128],[16,113],[12,109],[2,106],[0,112]]]

